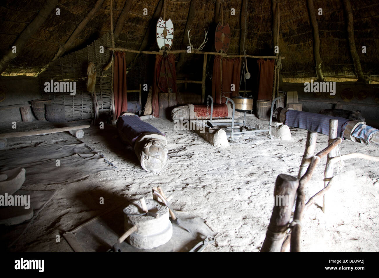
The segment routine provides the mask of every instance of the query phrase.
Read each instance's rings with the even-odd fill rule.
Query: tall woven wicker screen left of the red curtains
[[[111,34],[108,33],[91,45],[60,57],[39,75],[41,91],[44,98],[52,99],[55,104],[64,104],[67,121],[85,120],[94,117],[96,102],[86,90],[87,67],[94,62],[96,68],[96,94],[99,97],[99,115],[109,115],[112,105],[112,70],[103,70],[111,59]],[[100,53],[100,46],[104,53]],[[67,93],[45,92],[45,82],[76,82],[76,95]],[[100,84],[101,81],[101,84]],[[101,93],[100,92],[101,87]]]

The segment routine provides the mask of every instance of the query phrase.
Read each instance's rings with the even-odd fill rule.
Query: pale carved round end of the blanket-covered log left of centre
[[[158,173],[167,160],[167,146],[163,140],[149,139],[144,141],[140,162],[146,171]]]

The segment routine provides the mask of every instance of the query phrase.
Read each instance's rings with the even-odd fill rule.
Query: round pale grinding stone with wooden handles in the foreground
[[[132,215],[143,213],[139,201],[124,209],[125,231],[137,226],[137,231],[128,237],[130,245],[136,248],[151,249],[165,244],[171,239],[172,224],[169,219],[168,207],[159,202],[146,199],[149,212],[159,214],[158,218],[147,215]]]

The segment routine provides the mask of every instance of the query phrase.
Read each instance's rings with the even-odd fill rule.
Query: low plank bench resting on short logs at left
[[[83,124],[83,125],[78,125],[78,126],[55,127],[55,128],[50,128],[50,129],[41,129],[41,130],[33,130],[33,131],[20,131],[20,132],[2,133],[2,134],[0,134],[0,149],[5,148],[6,138],[16,138],[16,137],[24,137],[24,136],[32,136],[32,135],[43,135],[43,134],[69,131],[70,134],[72,134],[76,138],[80,139],[80,138],[84,137],[84,131],[82,129],[85,129],[88,127],[89,127],[89,124]]]

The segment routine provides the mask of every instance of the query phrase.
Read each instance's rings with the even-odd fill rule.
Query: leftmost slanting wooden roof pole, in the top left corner
[[[0,74],[8,67],[10,61],[19,56],[21,50],[25,43],[28,42],[31,36],[39,29],[42,23],[45,22],[50,12],[56,7],[58,0],[47,0],[41,11],[38,12],[37,16],[32,22],[22,31],[20,36],[14,41],[12,46],[16,47],[16,53],[13,53],[13,49],[10,48],[3,57],[0,58]]]

